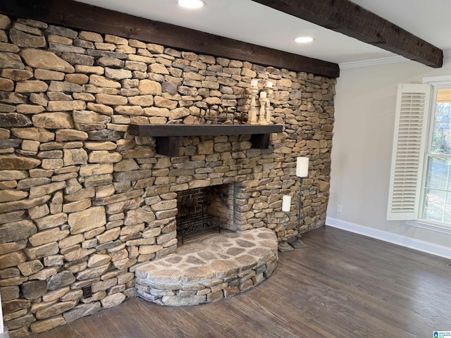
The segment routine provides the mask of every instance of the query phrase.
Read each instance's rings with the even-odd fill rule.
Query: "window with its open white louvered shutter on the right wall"
[[[387,218],[451,228],[451,77],[426,82],[398,88]]]

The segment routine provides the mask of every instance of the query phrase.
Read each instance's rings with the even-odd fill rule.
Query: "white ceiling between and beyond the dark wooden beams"
[[[395,56],[389,51],[251,0],[205,0],[206,6],[200,10],[180,8],[176,0],[78,1],[334,63],[346,64]],[[450,54],[451,0],[353,2],[438,46],[445,51],[445,55]],[[306,35],[314,37],[314,42],[296,44],[293,41],[295,37]]]

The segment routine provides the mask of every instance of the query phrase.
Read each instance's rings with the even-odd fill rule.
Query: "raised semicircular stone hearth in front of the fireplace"
[[[197,305],[255,287],[276,269],[272,230],[209,234],[135,270],[137,294],[167,306]]]

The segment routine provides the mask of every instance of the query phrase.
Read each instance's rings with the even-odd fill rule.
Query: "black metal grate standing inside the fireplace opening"
[[[201,212],[180,216],[175,218],[175,220],[177,222],[178,231],[182,237],[182,244],[185,237],[195,232],[201,232],[215,227],[218,228],[218,232],[221,232],[221,222],[219,217],[206,213],[206,204],[202,204]]]

